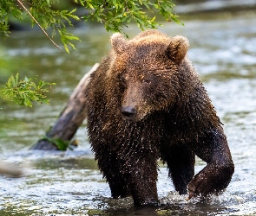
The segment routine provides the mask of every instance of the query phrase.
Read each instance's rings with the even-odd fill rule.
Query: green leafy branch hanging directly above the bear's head
[[[94,0],[75,0],[81,3],[89,10],[88,16],[82,16],[85,21],[92,19],[105,24],[107,31],[122,32],[124,27],[128,27],[128,23],[134,20],[138,27],[144,29],[156,29],[159,25],[155,22],[155,17],[149,17],[146,11],[154,13],[158,10],[161,16],[167,21],[174,21],[179,24],[178,16],[172,13],[174,3],[167,0],[115,0],[115,1],[94,1]]]

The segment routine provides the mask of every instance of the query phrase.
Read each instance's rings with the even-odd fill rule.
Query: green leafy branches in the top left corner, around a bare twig
[[[17,2],[20,3],[20,7],[26,9],[24,5],[30,6],[30,10],[21,10],[17,6]],[[61,40],[64,44],[64,47],[67,52],[69,48],[67,45],[71,45],[74,48],[74,45],[70,41],[79,40],[75,35],[72,35],[67,32],[66,24],[68,23],[72,26],[71,19],[80,20],[78,16],[75,16],[74,10],[53,10],[52,6],[56,3],[55,0],[0,0],[0,33],[5,38],[10,34],[9,32],[9,18],[13,16],[19,21],[23,21],[23,14],[30,13],[32,26],[39,23],[43,29],[52,28],[52,37],[58,32],[61,35]],[[34,19],[33,19],[34,18]]]

